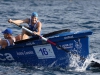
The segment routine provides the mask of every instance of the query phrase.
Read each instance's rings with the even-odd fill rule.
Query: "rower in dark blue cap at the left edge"
[[[10,28],[7,28],[2,33],[4,35],[4,39],[0,38],[0,49],[10,45],[14,45],[15,37],[12,36],[12,30]]]

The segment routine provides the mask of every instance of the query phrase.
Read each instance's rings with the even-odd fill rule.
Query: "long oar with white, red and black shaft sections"
[[[21,25],[17,25],[17,26],[20,27],[20,28],[22,28],[22,29],[24,29],[24,30],[26,30],[27,32],[33,34],[33,32],[32,32],[31,30],[27,29],[26,27],[21,26]],[[39,36],[42,40],[44,40],[44,41],[46,41],[46,42],[48,42],[48,43],[50,43],[50,44],[52,44],[52,45],[54,45],[54,46],[56,46],[56,47],[62,49],[63,51],[65,51],[65,52],[67,52],[67,53],[70,53],[70,54],[73,54],[73,55],[76,56],[76,57],[78,56],[78,57],[80,57],[81,60],[85,60],[84,57],[79,56],[78,54],[75,54],[74,52],[69,51],[69,50],[67,50],[67,49],[65,49],[65,48],[63,48],[63,47],[57,45],[55,42],[52,42],[51,40],[49,40],[49,39],[47,39],[47,38],[45,38],[45,37],[43,37],[43,36],[40,36],[40,35],[37,35],[37,36]]]

